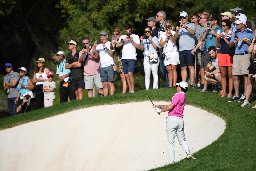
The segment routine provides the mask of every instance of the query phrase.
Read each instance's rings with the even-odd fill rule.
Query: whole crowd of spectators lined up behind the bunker
[[[55,54],[60,60],[56,70],[60,102],[83,99],[84,89],[89,98],[93,97],[94,85],[98,97],[113,95],[115,72],[122,80],[122,92],[134,93],[136,51],[141,50],[146,89],[151,83],[153,89],[158,89],[159,70],[165,87],[176,87],[180,65],[182,81],[187,81],[189,71],[190,88],[201,89],[202,93],[213,90],[229,102],[242,102],[241,107],[248,105],[256,79],[254,22],[238,7],[220,14],[198,12],[190,16],[189,19],[188,13],[182,11],[179,21],[173,23],[166,19],[165,12],[159,11],[146,19],[142,36],[133,33],[131,24],[125,24],[124,35],[115,28],[111,34],[101,31],[96,41],[84,37],[81,51],[76,49],[78,42],[71,39],[67,42],[67,56],[64,51]],[[17,73],[11,63],[6,63],[5,70],[3,87],[11,115],[53,105],[56,84],[44,58],[36,61],[32,79],[25,67]]]

